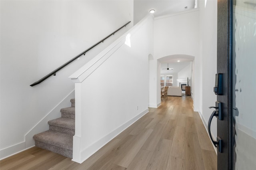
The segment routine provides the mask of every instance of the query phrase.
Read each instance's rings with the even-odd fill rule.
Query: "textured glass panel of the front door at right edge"
[[[256,169],[256,0],[233,1],[233,162]]]

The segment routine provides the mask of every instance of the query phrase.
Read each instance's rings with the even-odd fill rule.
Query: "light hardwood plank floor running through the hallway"
[[[216,170],[216,153],[191,97],[168,98],[82,164],[33,147],[1,160],[0,169]]]

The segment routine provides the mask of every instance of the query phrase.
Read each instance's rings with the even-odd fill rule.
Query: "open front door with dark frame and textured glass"
[[[218,0],[217,43],[217,73],[222,73],[218,170],[255,170],[256,0]]]

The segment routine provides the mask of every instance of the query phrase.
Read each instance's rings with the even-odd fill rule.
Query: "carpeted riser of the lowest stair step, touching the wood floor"
[[[73,157],[73,150],[61,148],[61,147],[58,147],[58,146],[54,146],[54,145],[51,145],[51,144],[40,142],[38,140],[35,140],[35,145],[39,148],[50,150],[54,153],[61,154],[61,155],[66,156],[68,158]]]

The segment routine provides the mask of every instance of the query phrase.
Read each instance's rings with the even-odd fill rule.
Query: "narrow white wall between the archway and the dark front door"
[[[217,100],[213,92],[215,84],[215,74],[217,73],[217,1],[208,0],[206,6],[204,1],[199,1],[200,7],[200,32],[202,50],[202,109],[200,114],[204,125],[207,127],[208,120],[213,109],[210,106],[215,106]],[[211,124],[212,136],[217,136],[216,118]]]

